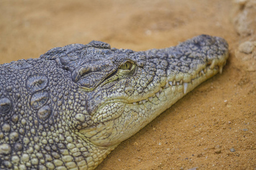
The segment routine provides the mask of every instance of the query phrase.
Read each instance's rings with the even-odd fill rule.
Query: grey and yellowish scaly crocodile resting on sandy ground
[[[135,52],[101,41],[0,65],[0,169],[94,169],[200,83],[222,73],[221,37]]]

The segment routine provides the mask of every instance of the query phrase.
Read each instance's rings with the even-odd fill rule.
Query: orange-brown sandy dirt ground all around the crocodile
[[[0,63],[67,44],[166,48],[200,34],[224,37],[230,57],[207,80],[133,137],[100,169],[255,169],[254,1],[0,2]]]

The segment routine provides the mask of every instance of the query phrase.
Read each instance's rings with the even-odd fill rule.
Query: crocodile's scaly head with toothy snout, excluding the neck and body
[[[85,96],[86,115],[75,115],[79,133],[96,146],[115,146],[222,72],[228,44],[201,35],[175,47],[134,52],[92,41],[55,48],[41,58],[69,70]]]

